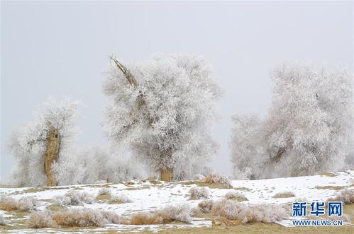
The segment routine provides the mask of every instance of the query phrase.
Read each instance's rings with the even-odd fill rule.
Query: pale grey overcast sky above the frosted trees
[[[15,163],[6,138],[50,95],[84,103],[78,144],[106,144],[107,55],[135,62],[155,52],[202,55],[214,66],[225,93],[212,168],[228,175],[231,116],[265,114],[270,69],[297,60],[353,71],[353,2],[1,1],[1,177]]]

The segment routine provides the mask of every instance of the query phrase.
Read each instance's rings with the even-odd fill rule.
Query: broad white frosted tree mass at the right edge
[[[287,64],[272,78],[267,117],[236,121],[231,141],[236,176],[312,175],[344,168],[353,148],[353,75]],[[250,124],[239,127],[240,122]]]

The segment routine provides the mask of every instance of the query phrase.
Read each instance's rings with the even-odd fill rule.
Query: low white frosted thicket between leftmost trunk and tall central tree
[[[132,158],[118,157],[108,147],[74,148],[53,165],[58,185],[120,182],[142,177],[142,168]]]

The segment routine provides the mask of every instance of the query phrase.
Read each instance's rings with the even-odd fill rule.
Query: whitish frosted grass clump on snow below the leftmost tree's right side
[[[64,196],[55,196],[53,204],[56,206],[82,206],[83,203],[92,204],[94,197],[87,192],[70,190]]]

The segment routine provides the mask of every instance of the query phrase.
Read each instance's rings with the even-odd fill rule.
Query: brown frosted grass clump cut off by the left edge
[[[13,199],[6,195],[0,195],[0,209],[4,211],[32,211],[38,204],[38,200],[35,197],[22,197],[19,200]]]

